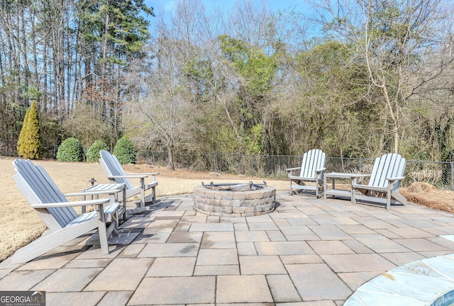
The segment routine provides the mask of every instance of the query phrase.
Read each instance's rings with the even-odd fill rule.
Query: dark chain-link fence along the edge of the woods
[[[56,159],[57,145],[44,145],[44,159]],[[17,157],[16,144],[0,140],[0,156]],[[250,155],[228,153],[182,153],[174,154],[175,166],[192,171],[208,171],[266,179],[287,179],[287,168],[301,165],[301,156]],[[139,163],[166,166],[167,152],[138,151]],[[350,159],[327,157],[327,172],[367,174],[372,171],[375,159]],[[403,186],[414,182],[428,183],[437,188],[454,190],[454,162],[406,161]]]

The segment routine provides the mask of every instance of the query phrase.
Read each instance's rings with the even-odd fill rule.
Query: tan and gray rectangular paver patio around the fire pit
[[[159,198],[102,255],[89,235],[23,265],[0,290],[43,290],[55,305],[343,305],[396,266],[453,254],[454,215],[419,205],[352,205],[277,192],[256,217],[207,216],[192,195]]]

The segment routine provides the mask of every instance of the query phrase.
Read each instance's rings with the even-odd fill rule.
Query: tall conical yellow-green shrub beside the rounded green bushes
[[[43,158],[43,140],[40,134],[40,120],[35,101],[26,112],[23,125],[17,142],[17,152],[26,159]]]

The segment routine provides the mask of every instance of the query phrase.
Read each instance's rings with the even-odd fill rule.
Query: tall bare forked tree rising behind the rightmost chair
[[[389,123],[397,152],[403,116],[416,89],[453,61],[440,60],[426,70],[425,54],[438,45],[440,22],[451,8],[446,10],[440,0],[326,0],[319,8],[318,21],[350,48],[352,63],[362,62],[365,85],[374,97],[370,101],[377,103],[378,117]]]

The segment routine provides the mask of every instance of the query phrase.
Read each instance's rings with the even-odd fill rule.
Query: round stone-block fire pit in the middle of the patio
[[[202,183],[194,188],[194,210],[206,215],[250,217],[275,210],[276,188],[257,183]]]

